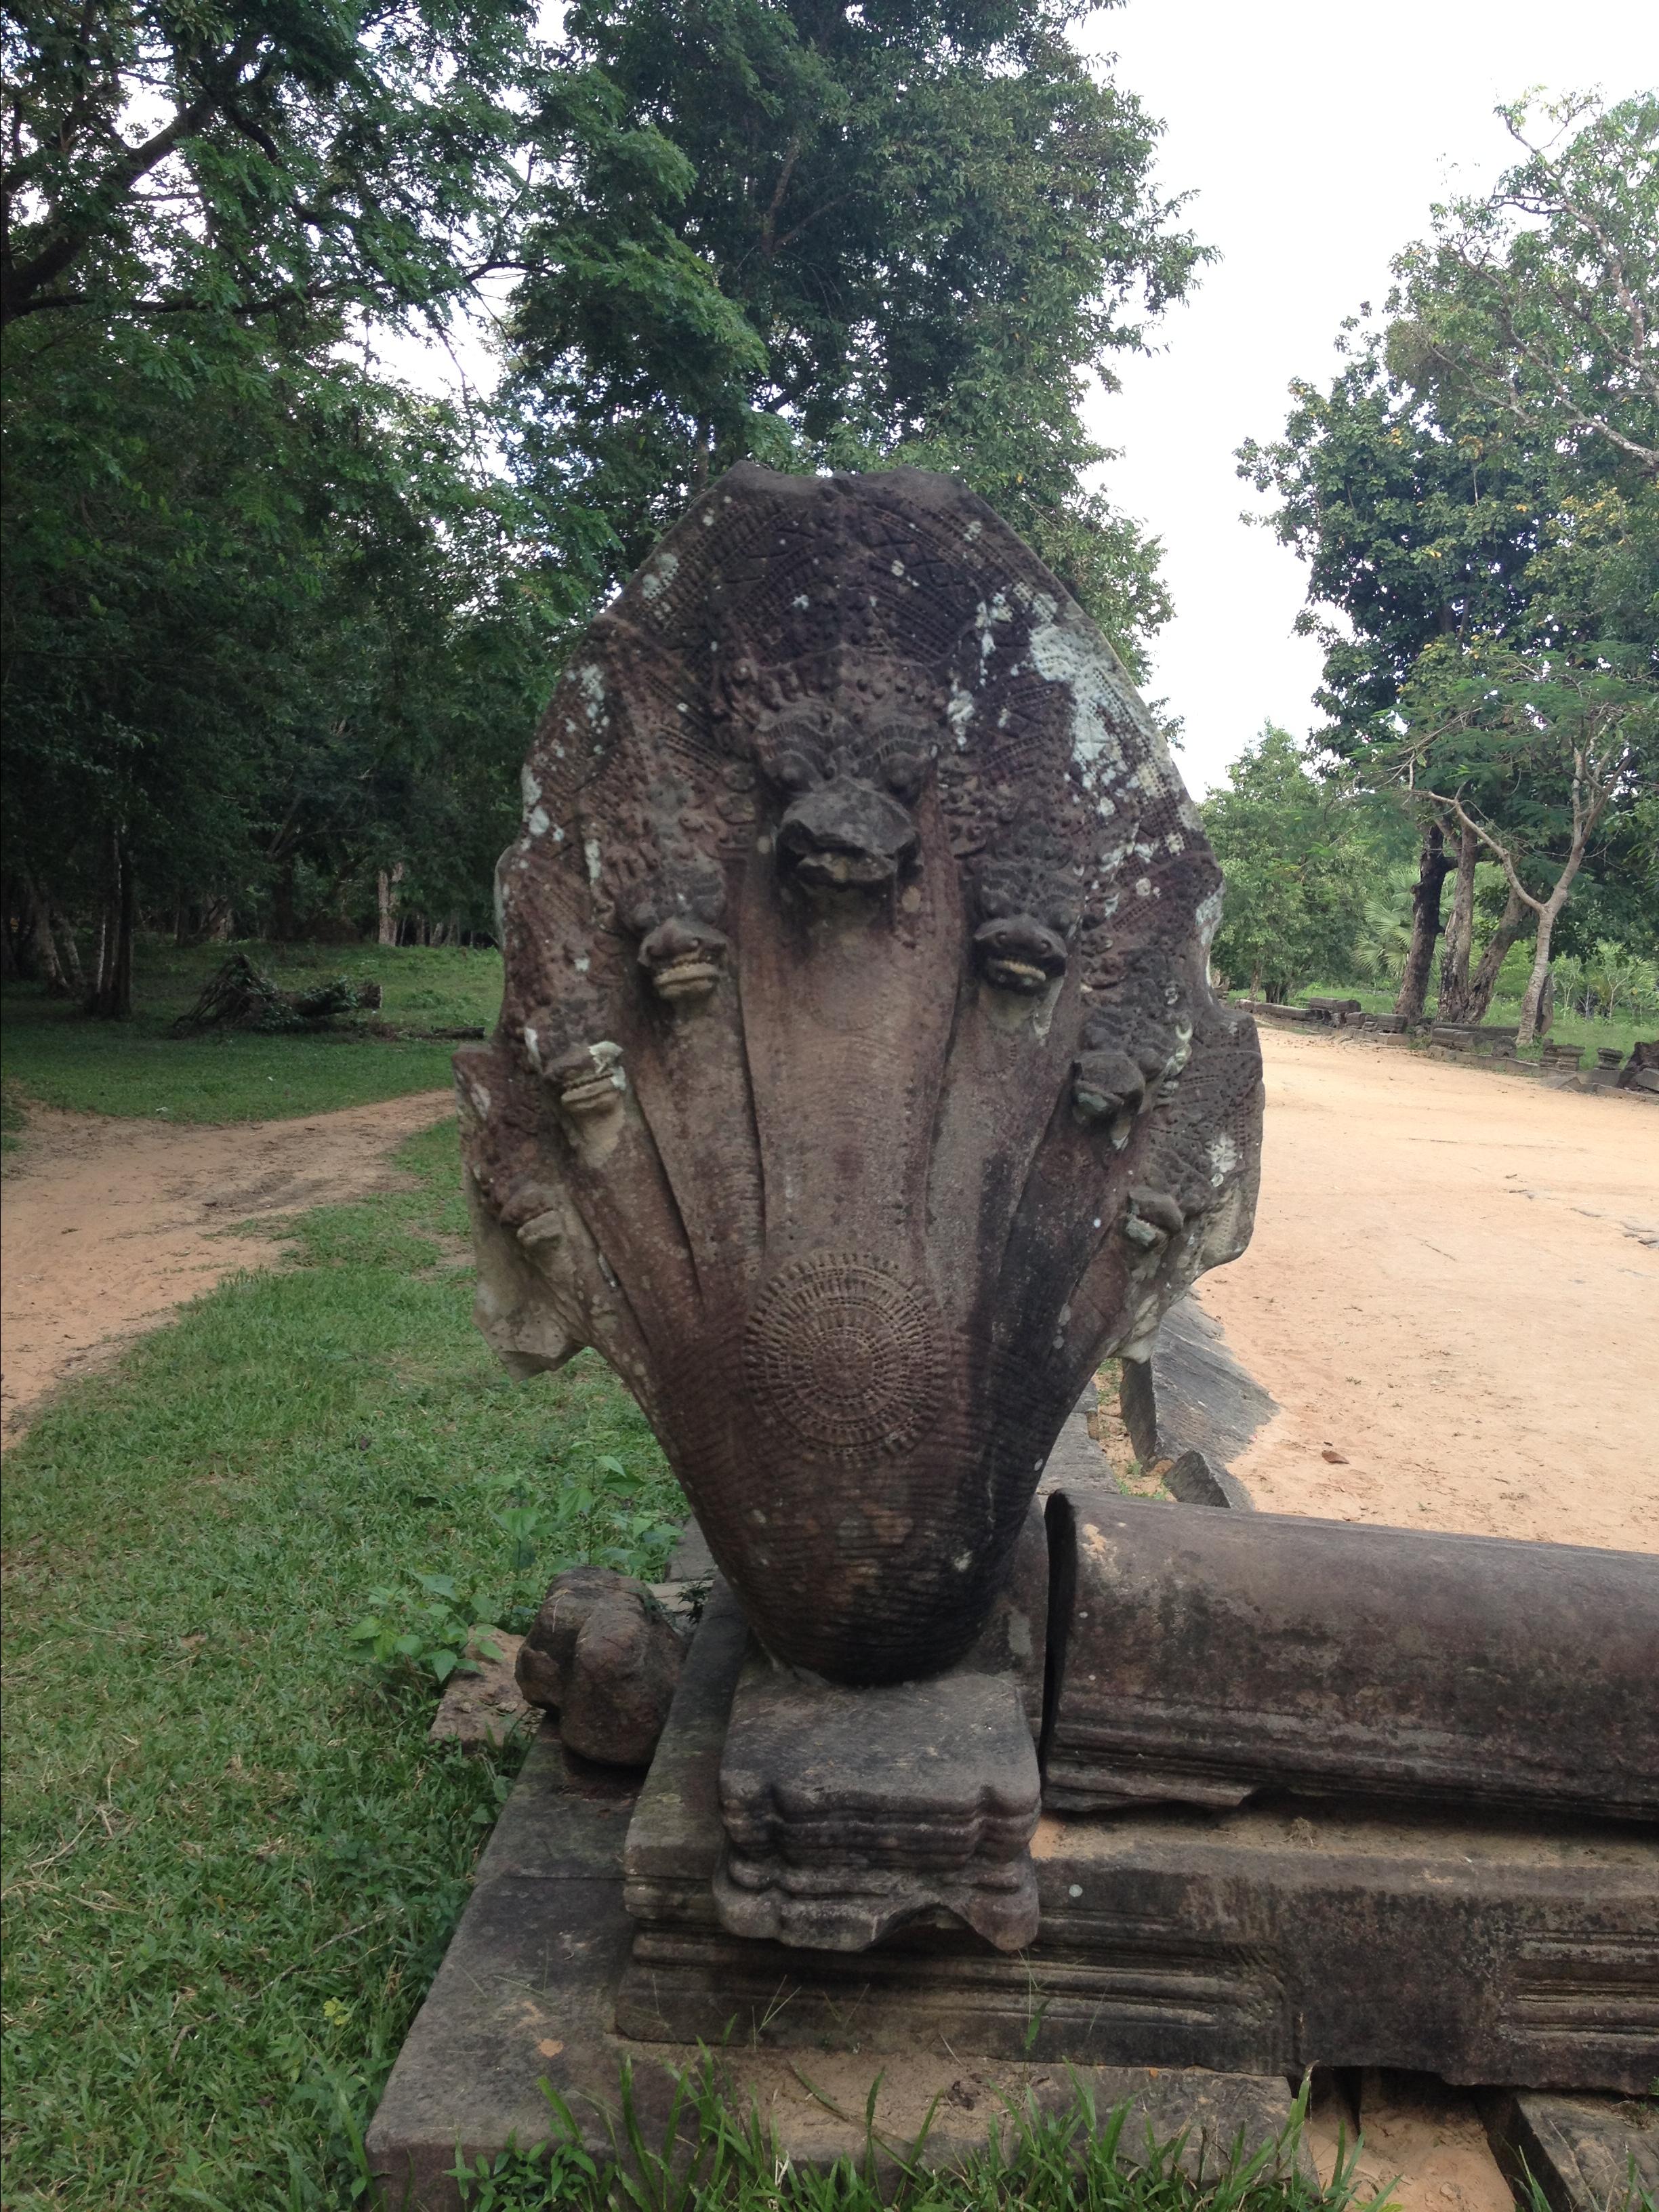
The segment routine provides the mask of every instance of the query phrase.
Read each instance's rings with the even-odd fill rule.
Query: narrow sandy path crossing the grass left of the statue
[[[449,1110],[447,1091],[420,1091],[305,1121],[159,1128],[31,1106],[24,1152],[0,1186],[4,1440],[51,1389],[186,1298],[281,1256],[226,1223],[403,1188],[387,1152]]]

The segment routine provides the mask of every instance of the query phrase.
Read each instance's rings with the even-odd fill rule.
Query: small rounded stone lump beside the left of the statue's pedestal
[[[686,1644],[644,1582],[604,1566],[555,1575],[518,1655],[518,1686],[557,1714],[582,1759],[644,1767],[668,1719]]]

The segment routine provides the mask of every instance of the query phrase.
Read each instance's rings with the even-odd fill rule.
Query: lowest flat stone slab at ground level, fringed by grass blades
[[[385,2212],[458,2212],[449,2170],[540,2143],[551,2132],[542,2084],[584,2128],[595,2154],[611,2148],[624,2064],[646,2141],[661,2143],[670,2068],[701,2064],[695,2042],[639,2044],[615,2033],[617,1984],[635,1938],[622,1905],[622,1851],[641,1776],[573,1759],[542,1730],[495,1834],[438,1978],[392,2068],[367,2148]],[[799,1955],[799,1953],[796,1953]],[[712,2042],[719,2044],[723,2026]],[[1104,2117],[1128,2106],[1124,2148],[1150,2135],[1188,2135],[1186,2163],[1210,2166],[1234,2139],[1274,2141],[1290,2117],[1283,2079],[1150,2066],[987,2064],[938,2037],[902,2057],[878,2051],[856,2017],[832,2028],[834,2048],[774,2051],[734,2035],[714,2051],[726,2095],[776,2130],[794,2163],[865,2154],[865,2099],[880,2077],[876,2135],[907,2150],[931,2121],[927,2159],[945,2166],[984,2143],[1002,2099],[1031,2095],[1068,2110],[1082,2084]],[[878,2159],[878,2166],[883,2161]],[[891,2157],[887,2161],[891,2166]]]

